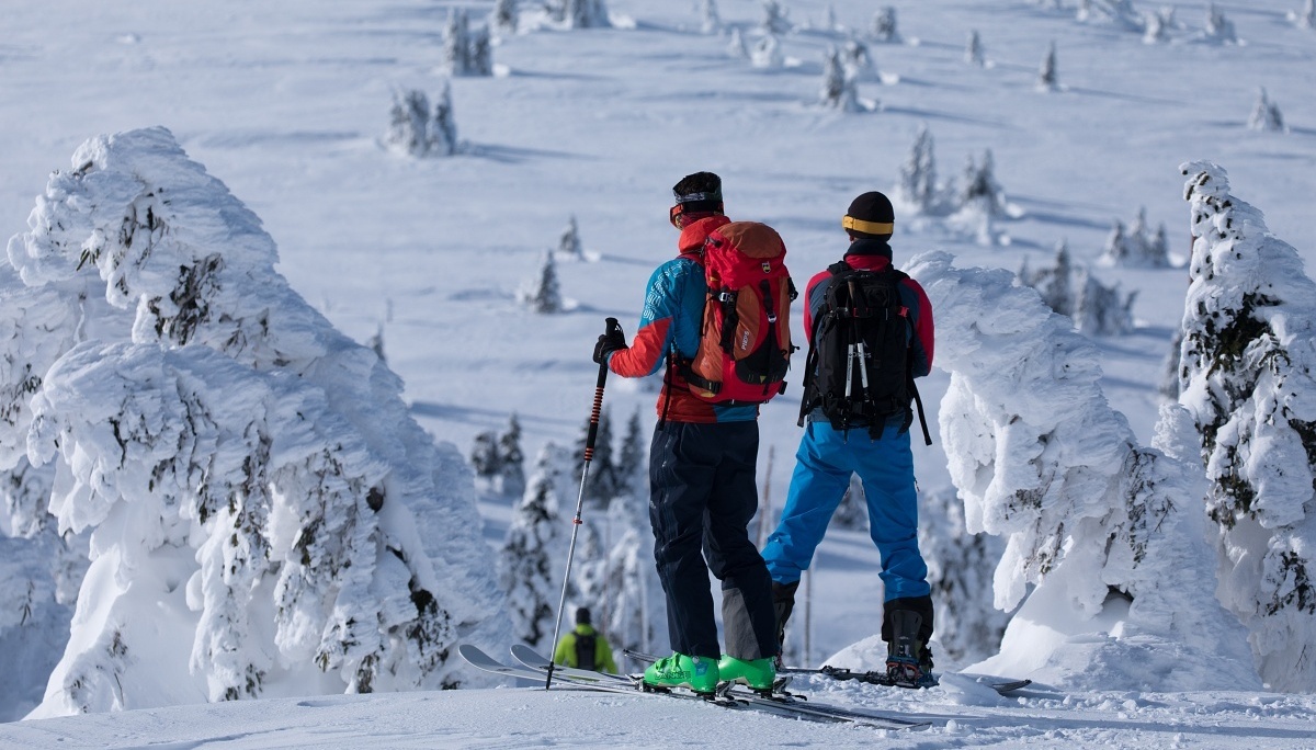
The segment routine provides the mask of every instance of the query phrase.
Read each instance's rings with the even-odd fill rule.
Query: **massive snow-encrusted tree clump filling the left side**
[[[466,682],[458,633],[507,634],[471,472],[259,218],[151,128],[83,143],[29,226],[0,470],[57,467],[46,507],[91,534],[34,716]]]

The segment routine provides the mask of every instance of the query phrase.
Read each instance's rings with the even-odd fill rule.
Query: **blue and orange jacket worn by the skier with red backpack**
[[[644,378],[669,364],[658,393],[659,420],[672,422],[741,422],[758,418],[758,407],[728,407],[704,401],[690,392],[679,363],[699,349],[708,282],[704,279],[704,241],[730,224],[725,216],[700,218],[680,232],[680,254],[649,276],[645,309],[629,349],[613,351],[608,368],[622,378]],[[675,358],[675,359],[672,359]]]

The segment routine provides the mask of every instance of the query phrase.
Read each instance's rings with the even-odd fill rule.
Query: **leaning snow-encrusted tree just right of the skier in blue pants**
[[[1103,689],[1257,684],[1237,620],[1211,587],[1183,586],[1216,570],[1200,472],[1136,445],[1101,393],[1098,347],[1008,271],[958,270],[945,253],[905,271],[937,311],[940,434],[965,528],[1005,538],[995,604],[1023,603],[1001,653],[971,671]],[[1162,412],[1158,434],[1179,416]]]

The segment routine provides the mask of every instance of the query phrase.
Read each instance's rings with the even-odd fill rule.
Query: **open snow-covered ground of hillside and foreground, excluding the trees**
[[[1269,228],[1305,261],[1316,258],[1316,30],[1287,16],[1302,11],[1300,0],[1216,4],[1238,43],[1200,38],[1207,4],[1196,1],[1134,3],[1175,11],[1161,43],[1101,18],[1078,22],[1078,3],[1067,0],[892,3],[903,41],[869,43],[876,70],[858,88],[867,111],[853,113],[817,104],[822,53],[845,38],[824,18],[830,8],[837,24],[867,33],[869,3],[784,3],[796,30],[782,38],[779,68],[730,57],[728,34],[701,33],[697,3],[608,5],[613,29],[504,34],[497,75],[451,80],[461,153],[411,159],[380,143],[392,91],[437,96],[449,11],[483,13],[492,3],[12,4],[0,41],[0,229],[26,229],[49,172],[68,170],[87,138],[168,128],[259,217],[293,289],[357,341],[382,334],[426,430],[467,453],[476,433],[501,429],[515,412],[528,457],[545,441],[578,437],[592,397],[594,339],[607,316],[634,333],[642,284],[674,247],[670,186],[687,172],[721,174],[728,212],[775,226],[796,276],[840,255],[845,207],[859,192],[894,189],[924,126],[944,176],[990,149],[1015,216],[995,224],[990,246],[974,228],[898,216],[898,264],[944,250],[958,267],[1017,270],[1026,261],[1036,268],[1062,241],[1076,262],[1095,264],[1113,221],[1128,225],[1142,208],[1153,228],[1167,226],[1182,261],[1188,204],[1178,164],[1192,159],[1228,168],[1233,191],[1266,213]],[[753,42],[762,4],[717,7]],[[965,62],[971,30],[984,67]],[[1058,89],[1038,91],[1051,42]],[[1248,128],[1259,87],[1283,109],[1287,133]],[[571,217],[587,253],[558,264],[569,312],[532,314],[516,291]],[[1137,292],[1137,329],[1096,345],[1105,396],[1148,445],[1186,271],[1095,272]],[[933,411],[948,386],[938,372],[921,387]],[[651,382],[612,379],[605,404],[615,424],[636,409],[651,424],[654,392]],[[934,418],[929,426],[934,445],[915,449],[920,484],[946,491],[950,461]],[[794,395],[765,408],[762,434],[761,487],[779,507],[799,438]],[[484,538],[497,545],[508,508],[482,511]],[[875,566],[863,533],[829,534],[811,580],[812,661],[876,630]],[[30,721],[0,726],[0,745],[1316,747],[1309,693],[1042,686],[1004,700],[954,680],[923,693],[808,688],[825,700],[924,714],[934,726],[883,734],[645,697],[470,689]]]

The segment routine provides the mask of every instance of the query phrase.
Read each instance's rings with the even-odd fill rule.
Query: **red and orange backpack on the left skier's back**
[[[757,221],[733,221],[704,242],[703,334],[683,372],[713,403],[761,404],[786,389],[791,366],[791,301],[786,243]]]

